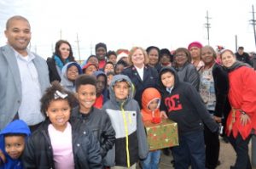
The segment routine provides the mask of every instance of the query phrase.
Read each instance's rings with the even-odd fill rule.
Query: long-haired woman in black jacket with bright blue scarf
[[[55,44],[55,53],[46,60],[49,69],[49,82],[61,82],[61,70],[68,62],[73,62],[73,51],[69,42],[60,40]]]

